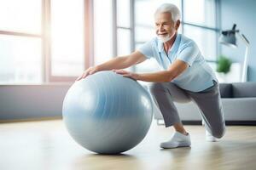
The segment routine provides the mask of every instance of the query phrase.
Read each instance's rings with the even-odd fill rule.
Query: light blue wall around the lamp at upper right
[[[256,1],[255,0],[222,0],[221,6],[221,29],[229,30],[236,23],[237,29],[243,33],[251,43],[248,52],[249,69],[248,81],[256,82]],[[236,62],[243,62],[245,45],[238,37],[238,48],[221,46],[222,54]]]

